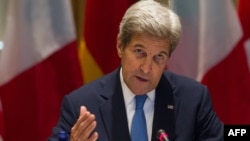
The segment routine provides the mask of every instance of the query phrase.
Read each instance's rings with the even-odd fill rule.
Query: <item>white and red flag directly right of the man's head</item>
[[[175,0],[173,5],[183,33],[168,68],[207,85],[225,124],[249,124],[249,56],[243,44],[245,29],[232,1]],[[249,28],[249,22],[245,26]]]

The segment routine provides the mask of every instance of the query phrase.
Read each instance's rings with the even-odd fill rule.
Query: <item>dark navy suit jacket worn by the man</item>
[[[130,141],[119,69],[73,91],[63,99],[61,116],[49,141],[71,130],[80,106],[95,114],[98,141]],[[170,141],[223,141],[223,123],[212,108],[206,86],[165,72],[156,88],[152,141],[164,129]]]

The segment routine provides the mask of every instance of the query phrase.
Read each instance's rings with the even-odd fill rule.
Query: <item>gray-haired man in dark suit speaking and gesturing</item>
[[[64,97],[49,141],[61,130],[71,141],[156,141],[160,129],[170,141],[223,141],[207,87],[166,71],[180,33],[179,18],[166,5],[149,0],[132,5],[117,37],[121,66]],[[142,121],[134,121],[138,95],[146,95],[142,129],[134,129]],[[134,130],[145,130],[145,139],[134,139]]]

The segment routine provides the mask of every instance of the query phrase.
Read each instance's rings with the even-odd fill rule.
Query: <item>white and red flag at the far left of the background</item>
[[[9,0],[0,55],[4,141],[44,141],[82,85],[69,0]]]

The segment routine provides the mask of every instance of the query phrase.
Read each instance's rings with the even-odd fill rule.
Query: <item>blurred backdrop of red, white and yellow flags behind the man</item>
[[[118,67],[136,1],[0,0],[0,141],[46,140],[62,97]],[[170,3],[183,27],[167,69],[207,85],[225,124],[250,124],[250,1]]]

